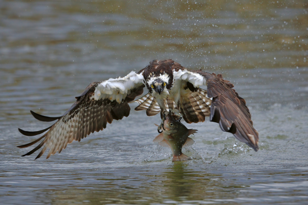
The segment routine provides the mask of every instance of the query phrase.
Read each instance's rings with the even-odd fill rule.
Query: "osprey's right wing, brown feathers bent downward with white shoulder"
[[[217,122],[224,132],[231,132],[238,140],[245,142],[255,151],[259,150],[259,133],[253,128],[249,109],[243,98],[233,89],[233,84],[223,80],[221,74],[206,73],[201,70],[193,71],[182,69],[174,72],[176,80],[186,81],[197,90],[199,86],[207,86],[207,98],[212,98],[210,106],[210,121]],[[192,91],[193,88],[190,88]],[[192,104],[193,106],[193,104]],[[185,119],[185,118],[184,118]],[[199,122],[202,119],[194,118],[188,123]]]

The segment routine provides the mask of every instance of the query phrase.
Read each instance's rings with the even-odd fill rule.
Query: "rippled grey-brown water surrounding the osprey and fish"
[[[3,204],[305,203],[307,1],[0,0],[0,200]],[[218,124],[196,128],[193,160],[171,163],[147,117],[128,118],[50,159],[18,149],[88,84],[172,58],[222,73],[247,101],[260,151]],[[128,119],[128,120],[126,120]],[[142,133],[142,135],[140,134]],[[144,136],[144,133],[146,135]],[[215,193],[215,194],[214,194]]]

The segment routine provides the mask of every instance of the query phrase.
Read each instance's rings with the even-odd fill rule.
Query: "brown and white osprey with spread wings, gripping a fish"
[[[207,91],[199,88],[202,85],[207,86]],[[143,93],[144,87],[147,87],[148,93],[134,101]],[[222,79],[221,74],[188,70],[171,59],[153,60],[138,73],[132,71],[125,77],[91,83],[62,116],[48,117],[30,111],[40,121],[57,121],[40,131],[18,129],[26,136],[48,130],[39,139],[18,147],[26,148],[43,139],[23,156],[43,147],[35,159],[41,157],[47,148],[49,158],[74,140],[80,141],[94,131],[103,130],[112,120],[127,117],[130,112],[128,103],[137,102],[139,105],[135,110],[146,110],[148,116],[160,113],[162,120],[169,110],[173,116],[181,115],[187,123],[203,122],[209,116],[210,121],[219,123],[222,131],[231,132],[257,151],[258,132],[253,128],[245,100],[233,87],[229,81]]]

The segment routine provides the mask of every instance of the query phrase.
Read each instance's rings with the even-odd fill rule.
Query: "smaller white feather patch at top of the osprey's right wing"
[[[192,83],[195,87],[200,87],[201,85],[206,85],[206,80],[199,73],[193,73],[187,69],[173,71],[173,77],[175,80],[181,79]]]

